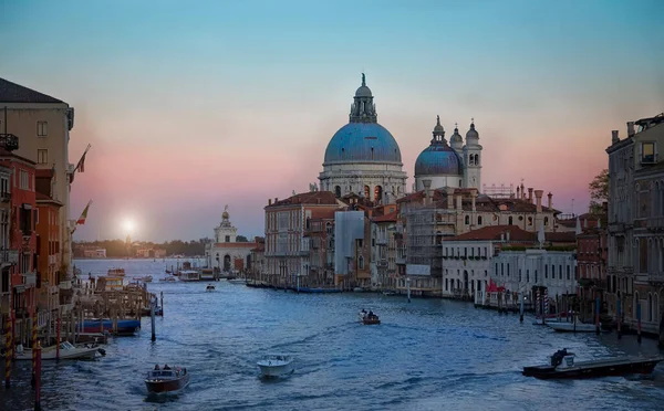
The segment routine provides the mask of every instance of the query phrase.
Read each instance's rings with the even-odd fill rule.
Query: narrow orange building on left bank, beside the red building
[[[60,201],[53,199],[53,170],[37,170],[37,287],[40,313],[60,306]]]

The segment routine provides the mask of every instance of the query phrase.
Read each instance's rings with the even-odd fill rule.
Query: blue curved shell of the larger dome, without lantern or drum
[[[400,164],[401,150],[392,134],[377,123],[349,123],[334,134],[325,149],[325,164]]]

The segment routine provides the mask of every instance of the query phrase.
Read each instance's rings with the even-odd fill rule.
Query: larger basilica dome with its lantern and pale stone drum
[[[388,203],[405,194],[407,176],[396,139],[377,123],[373,98],[362,74],[350,122],[328,144],[319,180],[321,190],[338,198],[356,193],[375,203]]]

